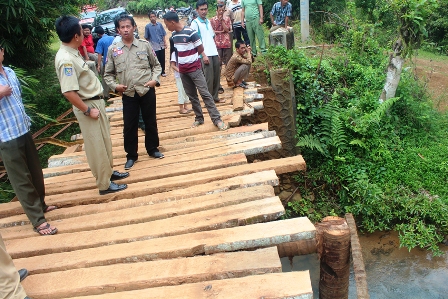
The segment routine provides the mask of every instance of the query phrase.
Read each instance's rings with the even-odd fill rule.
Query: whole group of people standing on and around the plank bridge
[[[179,112],[188,113],[187,103],[191,102],[195,113],[192,127],[204,124],[199,92],[213,124],[226,130],[227,125],[216,108],[216,103],[221,102],[218,98],[222,91],[221,67],[226,65],[229,83],[247,88],[244,79],[249,74],[252,56],[257,54],[255,36],[261,52],[265,51],[260,27],[263,23],[261,0],[231,0],[227,9],[220,0],[217,15],[210,21],[206,18],[208,3],[205,0],[197,2],[196,11],[198,17],[191,27],[182,25],[175,12],[164,15],[164,23],[172,31],[170,65],[177,73],[177,86],[183,98],[183,102],[179,102]],[[273,27],[286,27],[290,15],[291,5],[287,0],[276,3],[271,11]],[[140,111],[146,127],[147,154],[157,159],[164,157],[158,149],[155,87],[160,85],[160,76],[165,76],[166,32],[156,21],[155,14],[150,13],[149,18],[146,40],[134,37],[135,21],[125,14],[115,20],[119,39],[104,34],[102,27],[95,28],[100,39],[93,53],[90,28],[82,27],[79,19],[73,16],[56,20],[56,32],[62,44],[55,57],[55,70],[62,94],[73,105],[84,138],[87,162],[100,195],[126,189],[126,184],[115,181],[129,176],[129,172],[113,169],[110,125],[104,101],[109,89],[123,96],[125,170],[132,168],[138,159]],[[233,35],[237,41],[232,55]],[[11,68],[3,65],[4,54],[0,45],[0,158],[34,231],[43,236],[53,235],[58,230],[46,221],[44,214],[57,206],[45,203],[42,168],[30,134],[31,121],[22,102],[19,80]],[[94,61],[102,82],[88,61]],[[20,286],[26,270],[15,270],[1,236],[0,269],[0,295],[28,298]]]

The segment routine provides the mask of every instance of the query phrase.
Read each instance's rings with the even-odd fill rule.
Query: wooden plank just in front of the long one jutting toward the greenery
[[[51,213],[47,213],[45,217],[48,221],[54,221],[59,219],[78,217],[81,215],[92,215],[108,211],[138,207],[141,205],[151,205],[159,202],[178,201],[195,196],[202,196],[205,194],[227,192],[234,189],[256,188],[253,189],[254,192],[273,192],[272,186],[277,185],[278,178],[273,170],[262,171],[243,176],[236,176],[225,180],[214,181],[207,184],[202,184],[200,186],[189,186],[183,189],[164,193],[111,201],[108,202],[107,205],[88,204],[70,208],[59,208],[52,211]],[[0,205],[0,207],[1,206],[2,205]],[[21,206],[19,205],[19,207],[17,208],[21,209]],[[21,210],[21,212],[23,213],[23,210]],[[29,223],[30,221],[25,214],[0,218],[0,227],[10,227]],[[30,227],[28,228],[31,229]]]

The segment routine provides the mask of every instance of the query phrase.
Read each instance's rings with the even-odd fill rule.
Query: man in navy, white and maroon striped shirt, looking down
[[[179,23],[179,16],[175,12],[166,13],[163,19],[166,28],[173,32],[174,46],[178,52],[176,58],[179,65],[180,78],[196,115],[191,127],[195,128],[204,124],[204,115],[202,114],[202,107],[198,98],[199,91],[213,124],[220,130],[227,130],[227,125],[221,120],[221,115],[216,108],[213,97],[208,91],[207,82],[202,72],[199,54],[202,55],[204,61],[208,60],[208,57],[204,53],[204,46],[199,35],[195,30],[184,27]]]

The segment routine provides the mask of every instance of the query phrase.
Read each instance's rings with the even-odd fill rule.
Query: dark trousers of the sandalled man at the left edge
[[[31,224],[37,227],[46,222],[44,210],[48,206],[45,204],[44,176],[31,134],[0,142],[0,158]]]

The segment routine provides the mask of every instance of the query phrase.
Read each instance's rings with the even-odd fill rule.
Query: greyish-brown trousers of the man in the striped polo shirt
[[[216,56],[218,57],[218,56]],[[219,69],[219,68],[218,68]],[[207,108],[208,114],[214,125],[221,120],[221,115],[218,109],[216,109],[213,97],[208,91],[207,82],[204,78],[204,73],[201,69],[197,69],[191,73],[180,74],[182,79],[182,85],[184,86],[185,93],[190,99],[191,106],[193,108],[194,114],[196,115],[195,121],[204,123],[204,115],[202,114],[201,102],[199,102],[198,91],[204,101],[205,107]],[[196,90],[197,88],[197,90]]]

